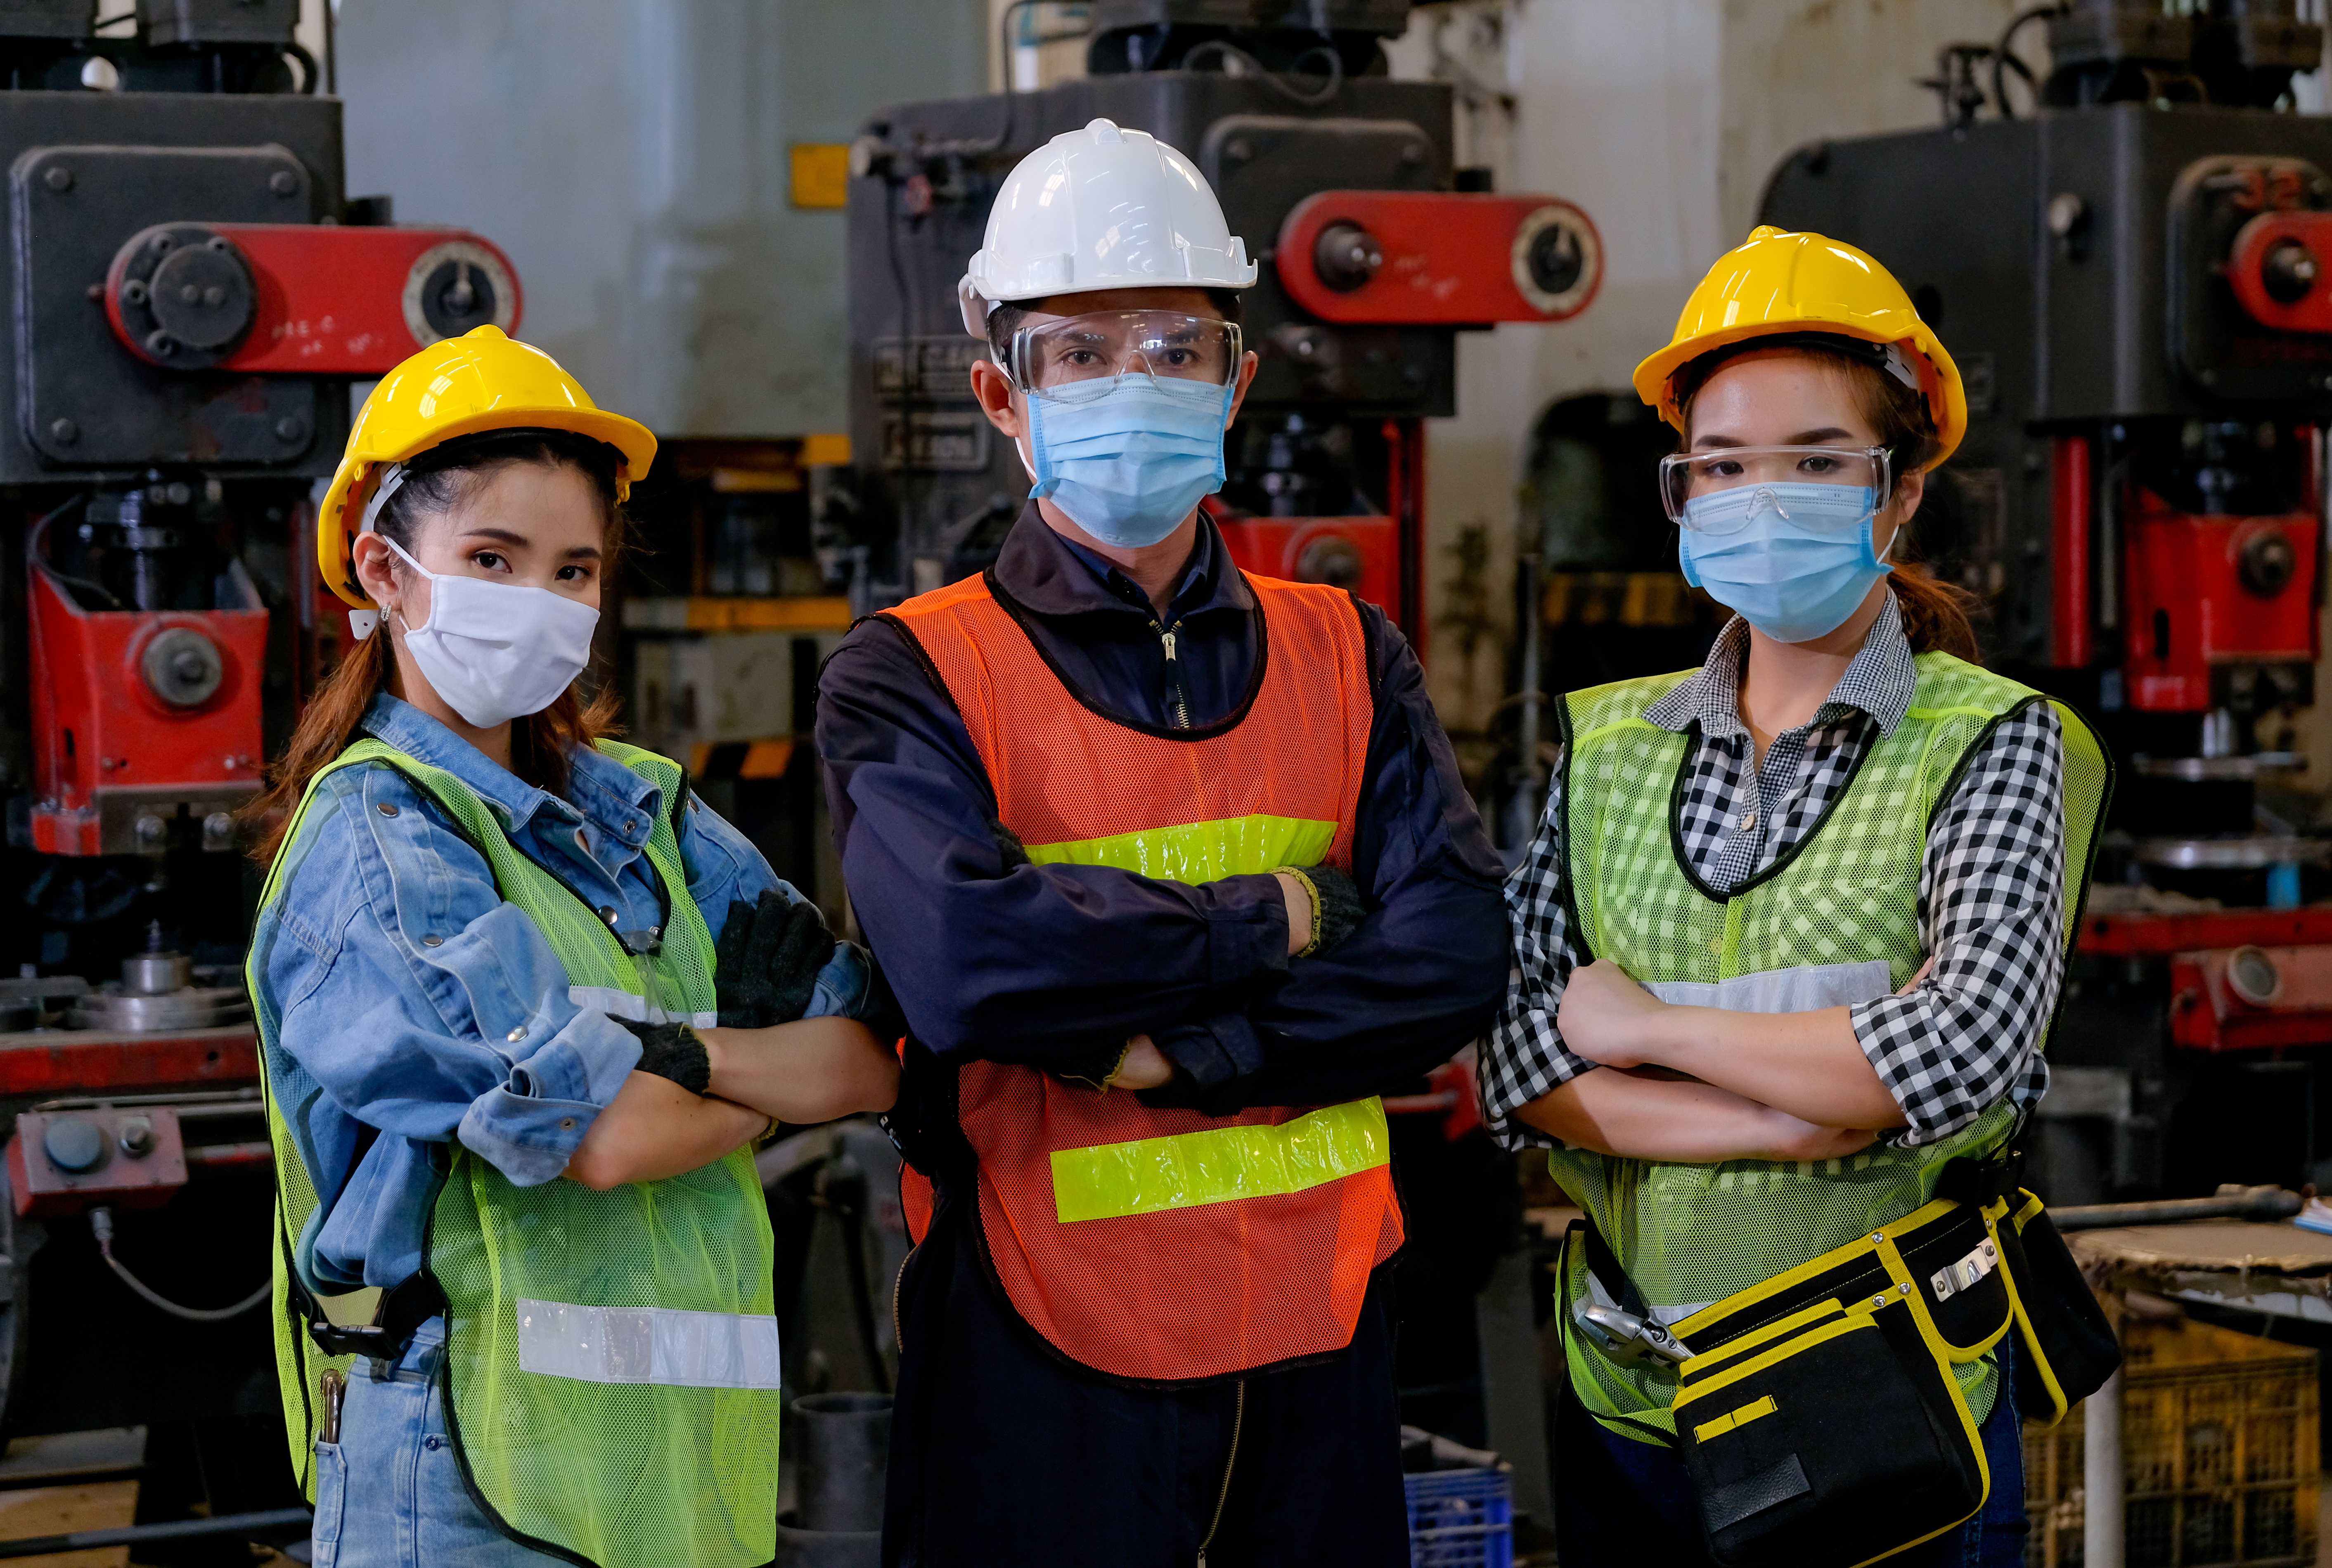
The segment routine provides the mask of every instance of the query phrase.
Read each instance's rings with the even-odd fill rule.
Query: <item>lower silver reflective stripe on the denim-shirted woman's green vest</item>
[[[518,1370],[585,1384],[777,1389],[777,1319],[518,1298]]]

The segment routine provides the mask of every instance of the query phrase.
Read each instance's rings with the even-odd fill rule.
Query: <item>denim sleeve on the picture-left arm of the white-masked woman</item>
[[[478,850],[371,767],[324,781],[287,853],[298,939],[268,946],[264,976],[282,1048],[380,1132],[459,1139],[520,1186],[564,1172],[639,1041],[569,1002],[564,967]]]

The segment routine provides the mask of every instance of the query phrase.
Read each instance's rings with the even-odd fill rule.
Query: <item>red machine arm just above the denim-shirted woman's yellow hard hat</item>
[[[518,331],[518,270],[490,240],[466,228],[352,228],[338,224],[156,224],[114,254],[105,277],[105,315],[114,336],[140,359],[156,354],[152,333],[133,324],[138,261],[201,242],[243,263],[252,289],[250,324],[233,347],[203,368],[282,375],[382,375],[436,333],[422,284],[445,266],[476,268],[492,289],[497,326]],[[128,294],[126,294],[128,289]]]

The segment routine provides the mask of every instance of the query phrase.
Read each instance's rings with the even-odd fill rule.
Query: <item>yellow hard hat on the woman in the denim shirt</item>
[[[574,431],[604,440],[623,452],[618,501],[655,461],[655,436],[646,424],[592,403],[583,382],[539,347],[513,342],[499,326],[431,342],[380,377],[347,431],[347,452],[315,515],[315,561],[331,592],[359,610],[373,608],[357,587],[350,557],[373,473],[480,431]]]

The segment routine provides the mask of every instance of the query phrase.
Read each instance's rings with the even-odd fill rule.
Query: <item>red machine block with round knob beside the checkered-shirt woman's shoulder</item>
[[[2204,713],[2213,666],[2316,657],[2313,513],[2197,517],[2138,487],[2124,517],[2131,708]]]

